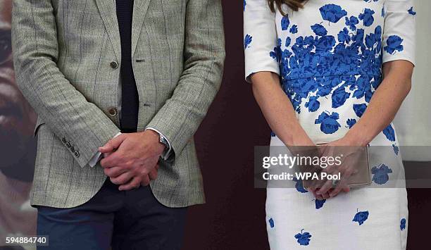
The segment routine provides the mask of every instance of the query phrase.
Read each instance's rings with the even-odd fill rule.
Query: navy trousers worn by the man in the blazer
[[[37,235],[49,236],[49,246],[38,250],[176,250],[187,208],[163,206],[150,187],[120,192],[106,180],[81,206],[37,206],[37,212]]]

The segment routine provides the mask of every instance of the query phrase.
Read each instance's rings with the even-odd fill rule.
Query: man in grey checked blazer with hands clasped
[[[180,249],[204,203],[193,135],[223,74],[220,0],[116,1],[13,1],[46,249]]]

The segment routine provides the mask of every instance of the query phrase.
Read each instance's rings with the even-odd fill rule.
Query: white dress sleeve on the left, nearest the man
[[[277,46],[275,13],[270,11],[266,0],[244,1],[244,54],[246,81],[261,71],[280,75],[277,61],[270,56]]]

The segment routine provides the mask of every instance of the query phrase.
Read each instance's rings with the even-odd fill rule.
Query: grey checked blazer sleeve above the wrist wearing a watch
[[[184,60],[173,95],[147,125],[170,142],[171,162],[192,139],[220,88],[225,60],[220,0],[187,1]]]

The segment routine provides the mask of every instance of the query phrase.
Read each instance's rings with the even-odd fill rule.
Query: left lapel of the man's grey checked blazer
[[[136,0],[135,0],[136,1]],[[106,32],[108,32],[109,39],[111,39],[115,56],[120,60],[121,58],[121,42],[120,31],[118,28],[117,11],[115,8],[114,0],[96,0],[97,8],[104,25]]]

